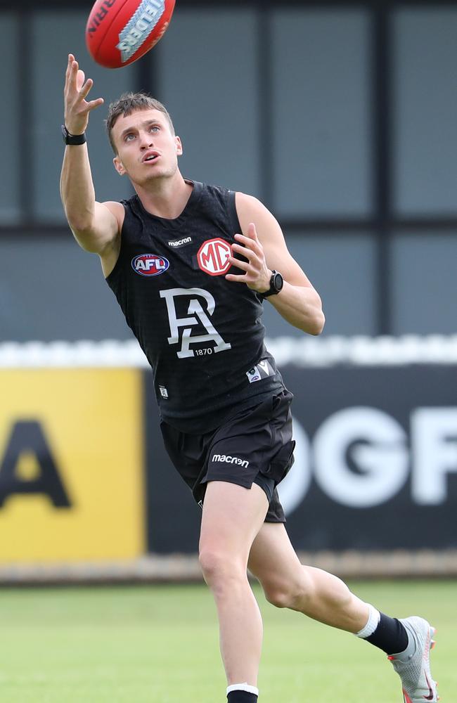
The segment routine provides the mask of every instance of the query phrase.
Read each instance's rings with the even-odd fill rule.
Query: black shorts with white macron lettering
[[[265,522],[285,522],[276,486],[293,463],[291,401],[287,389],[274,392],[205,434],[181,432],[162,420],[165,449],[197,503],[202,505],[207,482],[247,489],[256,483],[269,499]]]

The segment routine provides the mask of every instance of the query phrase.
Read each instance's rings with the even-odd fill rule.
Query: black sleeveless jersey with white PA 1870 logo
[[[192,181],[189,181],[192,182]],[[160,415],[205,432],[283,387],[264,346],[262,302],[225,274],[240,232],[235,193],[193,183],[176,219],[150,214],[134,195],[106,279],[153,369]]]

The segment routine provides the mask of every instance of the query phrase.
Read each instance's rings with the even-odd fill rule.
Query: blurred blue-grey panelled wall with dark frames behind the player
[[[71,7],[71,9],[68,9]],[[316,288],[326,334],[452,333],[457,278],[455,3],[178,0],[122,70],[89,58],[91,3],[0,4],[0,340],[124,339],[58,194],[67,53],[109,102],[168,106],[187,176],[266,202]],[[91,117],[99,200],[129,195]],[[299,334],[271,313],[269,335]]]

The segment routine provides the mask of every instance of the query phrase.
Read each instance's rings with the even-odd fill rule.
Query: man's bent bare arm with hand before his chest
[[[284,278],[284,287],[267,299],[288,323],[310,335],[319,335],[325,323],[321,298],[288,251],[278,221],[251,195],[236,193],[236,209],[243,234],[236,234],[232,248],[246,262],[233,257],[231,262],[245,273],[227,273],[226,279],[245,283],[262,293],[270,287],[271,271],[277,269]]]

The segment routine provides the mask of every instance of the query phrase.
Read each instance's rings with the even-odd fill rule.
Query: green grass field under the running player
[[[438,628],[433,674],[457,697],[455,581],[351,583],[399,617]],[[385,655],[354,636],[269,605],[262,703],[401,703]],[[203,586],[0,590],[2,703],[223,703],[214,605]]]

